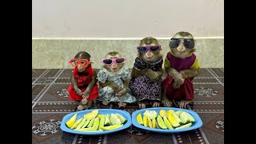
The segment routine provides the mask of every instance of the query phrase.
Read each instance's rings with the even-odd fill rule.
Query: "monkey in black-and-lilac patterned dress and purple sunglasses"
[[[139,109],[148,105],[159,107],[163,74],[161,45],[156,38],[147,37],[140,41],[137,50],[138,57],[132,68],[129,88],[137,99]]]

